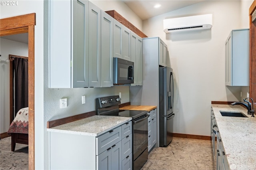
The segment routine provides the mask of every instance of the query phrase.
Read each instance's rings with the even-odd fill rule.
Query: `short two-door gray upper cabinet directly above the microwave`
[[[114,57],[131,61],[131,30],[114,20]]]

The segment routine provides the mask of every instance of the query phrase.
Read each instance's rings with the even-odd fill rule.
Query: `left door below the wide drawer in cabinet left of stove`
[[[111,170],[111,149],[96,156],[96,170]]]

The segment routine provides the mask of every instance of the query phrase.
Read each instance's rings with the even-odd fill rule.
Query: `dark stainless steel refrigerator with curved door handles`
[[[159,67],[159,146],[168,146],[173,137],[174,81],[170,67]]]

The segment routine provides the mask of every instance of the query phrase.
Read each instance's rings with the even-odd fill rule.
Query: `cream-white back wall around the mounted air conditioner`
[[[168,45],[177,90],[175,133],[210,136],[211,101],[240,101],[241,87],[225,86],[225,40],[232,29],[248,28],[242,21],[248,20],[249,4],[204,1],[143,21],[144,34],[159,36]],[[164,19],[200,14],[212,14],[211,30],[163,31]]]

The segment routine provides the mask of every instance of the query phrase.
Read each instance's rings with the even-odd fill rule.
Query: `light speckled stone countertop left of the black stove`
[[[47,131],[99,136],[131,120],[132,118],[130,117],[95,115],[64,125],[47,128]]]

